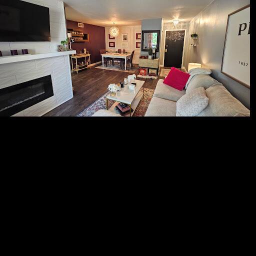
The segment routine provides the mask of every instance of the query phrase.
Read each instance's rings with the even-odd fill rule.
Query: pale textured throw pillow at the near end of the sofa
[[[177,101],[176,116],[196,116],[208,103],[209,99],[205,89],[203,87],[194,88]]]

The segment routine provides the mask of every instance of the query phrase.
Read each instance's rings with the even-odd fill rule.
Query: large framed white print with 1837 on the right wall
[[[250,88],[250,5],[228,15],[221,72]]]

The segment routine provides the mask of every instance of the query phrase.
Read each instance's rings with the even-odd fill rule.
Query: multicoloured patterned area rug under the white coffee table
[[[143,91],[143,88],[140,89]],[[106,109],[106,95],[109,92],[106,92],[103,96],[101,96],[99,99],[97,99],[95,102],[93,102],[90,106],[85,108],[83,111],[81,111],[76,116],[91,116],[95,112],[97,112],[100,109]],[[133,116],[144,116],[147,110],[147,107],[152,99],[152,96],[154,94],[154,89],[145,88],[144,89],[144,97],[142,97],[138,103],[137,108],[135,109],[135,112]],[[110,108],[113,105],[113,100],[108,100],[108,108]]]

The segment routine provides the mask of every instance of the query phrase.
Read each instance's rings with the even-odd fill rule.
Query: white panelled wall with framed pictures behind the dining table
[[[106,49],[113,51],[118,49],[125,49],[128,53],[134,50],[132,63],[138,64],[140,56],[140,48],[136,48],[136,42],[141,42],[141,39],[136,39],[136,33],[141,33],[141,26],[118,26],[120,33],[115,39],[108,39],[108,30],[110,26],[105,27],[105,43]],[[128,42],[122,42],[122,34],[128,34]],[[109,48],[109,42],[115,42],[114,48]]]

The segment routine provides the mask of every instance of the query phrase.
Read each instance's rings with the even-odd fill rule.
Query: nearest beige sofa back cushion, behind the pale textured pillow
[[[209,104],[197,116],[234,116],[237,113],[250,115],[250,110],[233,97],[221,83],[209,87],[205,92]]]

